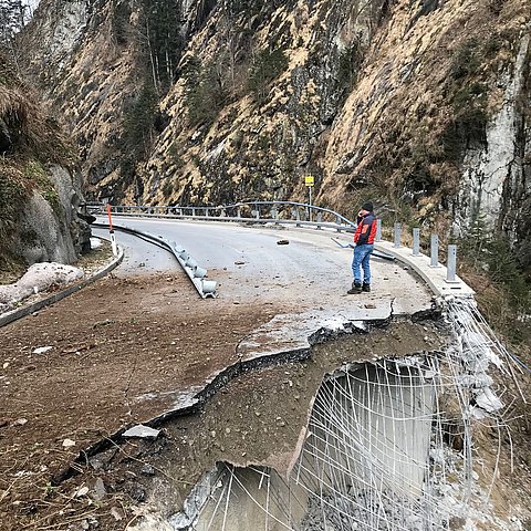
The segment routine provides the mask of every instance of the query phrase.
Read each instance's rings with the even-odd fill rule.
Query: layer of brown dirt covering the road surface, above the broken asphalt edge
[[[2,327],[0,529],[69,529],[46,527],[66,501],[48,501],[51,478],[95,440],[169,408],[176,388],[235,363],[238,342],[274,311],[221,309],[181,273],[111,275]]]

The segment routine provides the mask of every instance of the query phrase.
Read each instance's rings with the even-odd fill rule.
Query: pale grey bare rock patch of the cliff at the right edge
[[[521,264],[531,268],[530,33],[521,42],[512,76],[503,83],[501,108],[491,117],[482,146],[469,148],[457,205],[459,228],[482,217],[509,236]]]

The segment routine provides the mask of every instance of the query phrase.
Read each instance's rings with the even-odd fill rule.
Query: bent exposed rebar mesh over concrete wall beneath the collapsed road
[[[476,485],[472,425],[504,427],[488,371],[503,369],[507,352],[473,301],[447,301],[446,315],[455,331],[446,352],[343,367],[325,378],[288,478],[220,465],[187,529],[436,531],[452,518],[487,518],[496,529],[490,491]],[[490,471],[482,464],[491,486],[498,459]]]

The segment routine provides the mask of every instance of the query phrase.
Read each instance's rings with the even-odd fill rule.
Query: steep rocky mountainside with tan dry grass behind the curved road
[[[311,174],[346,215],[481,218],[529,263],[523,3],[43,0],[24,40],[95,196],[303,199]]]

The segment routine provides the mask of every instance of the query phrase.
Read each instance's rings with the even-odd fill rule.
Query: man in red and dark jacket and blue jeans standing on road
[[[371,291],[371,253],[374,249],[374,237],[376,236],[376,218],[373,212],[373,204],[364,202],[357,215],[357,228],[354,233],[354,257],[352,259],[352,272],[354,282],[347,291],[350,295]],[[363,283],[362,283],[363,269]]]

